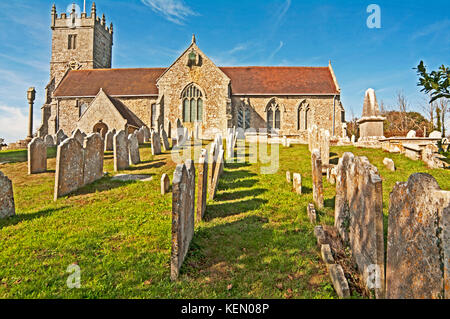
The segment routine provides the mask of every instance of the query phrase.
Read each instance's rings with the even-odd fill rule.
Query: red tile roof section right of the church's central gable
[[[222,67],[233,94],[339,94],[328,67]]]

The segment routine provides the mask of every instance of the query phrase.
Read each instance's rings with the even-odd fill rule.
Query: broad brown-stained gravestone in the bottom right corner
[[[411,175],[390,194],[386,298],[450,299],[450,192]]]

